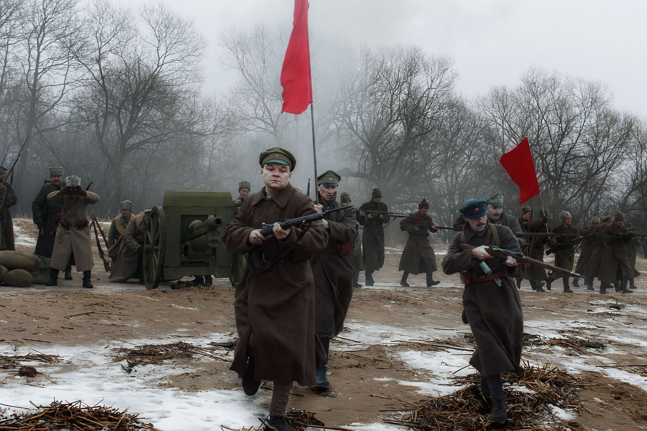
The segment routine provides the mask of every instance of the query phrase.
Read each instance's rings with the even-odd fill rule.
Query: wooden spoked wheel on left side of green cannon
[[[162,207],[153,207],[144,235],[144,284],[146,290],[156,289],[164,275],[166,253],[166,217]]]

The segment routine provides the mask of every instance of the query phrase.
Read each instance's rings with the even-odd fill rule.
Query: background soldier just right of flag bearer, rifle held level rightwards
[[[371,200],[360,206],[357,218],[364,226],[362,233],[362,248],[364,249],[364,275],[366,286],[373,286],[373,272],[379,271],[384,265],[384,224],[391,220],[391,217],[383,214],[365,213],[362,210],[379,211],[388,213],[389,208],[382,202],[382,192],[375,187],[371,192]]]

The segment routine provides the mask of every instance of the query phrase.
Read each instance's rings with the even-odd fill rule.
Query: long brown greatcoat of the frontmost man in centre
[[[254,378],[316,384],[316,366],[325,359],[314,331],[314,281],[309,253],[322,250],[327,233],[322,222],[302,231],[290,228],[284,240],[272,237],[260,246],[248,242],[249,234],[284,218],[314,214],[313,202],[288,184],[271,199],[264,188],[245,199],[234,220],[225,228],[223,240],[231,253],[248,253],[247,268],[236,286],[234,310],[238,342],[231,370],[239,377],[247,369],[248,344],[253,335]],[[270,262],[288,255],[274,268]]]

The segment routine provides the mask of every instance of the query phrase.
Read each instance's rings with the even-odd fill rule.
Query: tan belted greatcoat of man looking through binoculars
[[[90,225],[87,220],[87,205],[99,202],[99,195],[88,191],[86,196],[72,198],[69,194],[58,193],[58,191],[53,191],[47,195],[47,199],[52,204],[61,205],[61,219],[56,228],[56,240],[50,267],[64,271],[70,260],[70,255],[74,253],[74,266],[76,266],[77,272],[92,269],[94,262]],[[69,224],[69,229],[63,227],[63,224]],[[82,226],[76,226],[78,224]]]

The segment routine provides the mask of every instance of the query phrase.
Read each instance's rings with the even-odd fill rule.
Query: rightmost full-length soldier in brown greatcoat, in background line
[[[613,223],[604,227],[602,231],[602,241],[606,244],[604,247],[604,254],[600,262],[600,272],[598,280],[600,280],[600,293],[606,293],[606,289],[611,285],[617,284],[615,289],[622,293],[631,293],[627,289],[627,280],[633,277],[633,268],[629,263],[629,255],[627,253],[626,243],[634,237],[633,233],[629,233],[627,227],[622,224],[624,214],[622,211],[617,211],[613,215]],[[619,283],[616,283],[619,281]]]

